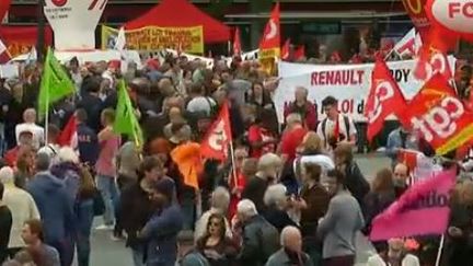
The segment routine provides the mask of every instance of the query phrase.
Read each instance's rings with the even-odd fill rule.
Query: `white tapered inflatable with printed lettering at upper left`
[[[95,49],[95,27],[107,0],[45,0],[58,50]]]

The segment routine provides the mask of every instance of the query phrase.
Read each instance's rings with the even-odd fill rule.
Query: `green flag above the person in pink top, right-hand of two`
[[[132,138],[137,147],[142,147],[143,144],[141,127],[135,115],[135,109],[124,80],[120,80],[118,83],[118,103],[115,113],[114,131]]]

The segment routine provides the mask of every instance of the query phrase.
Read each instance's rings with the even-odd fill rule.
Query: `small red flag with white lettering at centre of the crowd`
[[[232,141],[228,102],[223,103],[219,116],[212,123],[200,143],[204,158],[224,161]]]

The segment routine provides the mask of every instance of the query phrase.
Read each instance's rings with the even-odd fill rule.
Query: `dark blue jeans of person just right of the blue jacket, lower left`
[[[79,266],[89,266],[90,261],[90,235],[93,222],[93,199],[86,199],[77,206],[77,257]]]

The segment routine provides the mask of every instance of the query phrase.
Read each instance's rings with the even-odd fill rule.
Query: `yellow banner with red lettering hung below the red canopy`
[[[118,30],[102,26],[102,49],[115,46]],[[132,50],[181,49],[188,54],[204,54],[203,26],[158,27],[146,26],[125,31],[126,47]]]

